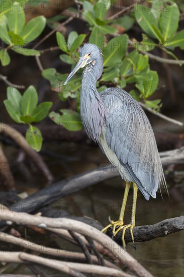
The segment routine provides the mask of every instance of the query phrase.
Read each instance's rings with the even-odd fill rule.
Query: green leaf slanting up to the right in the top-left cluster
[[[23,30],[20,32],[20,36],[25,43],[29,43],[37,38],[45,28],[46,18],[44,16],[38,16],[31,19]]]

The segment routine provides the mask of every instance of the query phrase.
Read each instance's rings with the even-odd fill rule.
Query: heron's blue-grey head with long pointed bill
[[[96,63],[99,64],[99,71],[100,73],[97,74],[97,78],[99,79],[100,76],[102,75],[103,71],[103,58],[102,58],[102,52],[98,46],[95,44],[91,43],[86,43],[82,47],[79,48],[79,54],[80,58],[79,61],[77,62],[75,68],[73,71],[69,74],[65,81],[65,85],[67,82],[71,79],[71,77],[80,69],[83,68],[85,65],[93,64],[95,65]]]

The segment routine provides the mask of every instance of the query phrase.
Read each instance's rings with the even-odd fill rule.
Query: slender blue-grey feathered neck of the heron
[[[99,141],[104,126],[106,111],[96,88],[99,75],[95,74],[93,64],[84,68],[81,82],[80,115],[89,137]]]

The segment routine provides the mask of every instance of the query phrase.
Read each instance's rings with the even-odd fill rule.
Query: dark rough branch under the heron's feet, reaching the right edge
[[[165,219],[153,225],[135,226],[133,228],[134,242],[149,241],[158,237],[166,237],[169,234],[184,230],[184,216]],[[112,228],[109,228],[107,235],[112,237],[119,245],[122,245],[122,231],[113,237]],[[125,241],[132,242],[130,230],[125,232]]]

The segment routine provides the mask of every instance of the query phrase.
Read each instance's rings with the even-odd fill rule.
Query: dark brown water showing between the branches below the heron
[[[98,147],[79,146],[73,143],[63,144],[45,144],[43,151],[52,151],[58,154],[75,157],[78,161],[67,161],[66,157],[62,159],[45,158],[49,168],[57,180],[72,176],[79,172],[95,168],[104,162],[107,162],[103,153]],[[26,175],[21,175],[15,172],[17,176],[17,188],[21,191],[33,193],[44,186],[44,180],[40,179],[40,174],[34,174],[33,179],[26,180]],[[168,186],[174,185],[172,180],[167,181]],[[181,184],[179,184],[181,185]],[[178,186],[178,184],[177,184]],[[96,184],[84,190],[72,194],[70,197],[63,198],[53,207],[66,210],[75,216],[87,216],[98,220],[103,226],[108,225],[109,216],[113,220],[117,220],[123,199],[124,188],[122,180],[116,177],[107,180],[103,183]],[[160,192],[157,193],[157,198],[151,198],[146,201],[142,194],[138,193],[136,225],[151,225],[167,218],[178,217],[182,215],[181,207],[177,204],[170,194],[164,194],[164,201],[161,198]],[[127,202],[125,213],[125,223],[129,223],[132,205],[132,190]],[[23,230],[24,234],[24,230]],[[70,251],[79,251],[79,248],[66,243],[62,239],[56,239],[54,236],[45,239],[44,236],[38,236],[33,231],[28,231],[27,239],[39,244],[49,245],[50,247],[61,247]],[[23,235],[24,236],[24,235]],[[183,232],[168,235],[167,237],[157,238],[152,241],[143,243],[129,243],[127,250],[131,253],[145,268],[147,268],[154,276],[175,276],[182,277],[184,275],[183,258],[184,258],[184,237]],[[120,251],[122,251],[120,247]],[[45,271],[46,270],[46,271]],[[48,274],[54,274],[52,269],[44,269]],[[30,273],[23,265],[11,265],[6,273]],[[5,273],[4,272],[4,273]],[[62,276],[65,276],[64,274]]]

